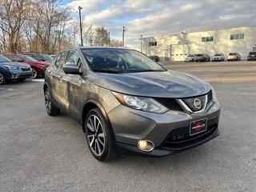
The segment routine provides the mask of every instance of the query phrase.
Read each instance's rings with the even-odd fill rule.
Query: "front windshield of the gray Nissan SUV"
[[[102,73],[165,71],[158,63],[136,50],[111,48],[82,49],[90,69]]]

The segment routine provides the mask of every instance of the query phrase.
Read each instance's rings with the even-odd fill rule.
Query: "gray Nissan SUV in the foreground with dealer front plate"
[[[218,136],[214,88],[136,50],[64,50],[47,68],[43,91],[46,112],[54,116],[62,109],[77,118],[99,161],[121,149],[165,156]]]

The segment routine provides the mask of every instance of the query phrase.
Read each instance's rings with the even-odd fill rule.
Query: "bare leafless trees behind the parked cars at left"
[[[62,0],[1,0],[0,52],[55,54],[66,46],[80,44],[80,28],[70,6]],[[109,39],[104,27],[82,24],[88,46],[120,46]]]

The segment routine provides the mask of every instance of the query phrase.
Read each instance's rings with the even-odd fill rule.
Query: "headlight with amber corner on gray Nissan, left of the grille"
[[[143,98],[127,94],[119,94],[112,92],[114,96],[125,106],[134,108],[136,110],[145,110],[151,113],[163,114],[168,109],[162,106],[159,102],[155,101],[153,98]]]

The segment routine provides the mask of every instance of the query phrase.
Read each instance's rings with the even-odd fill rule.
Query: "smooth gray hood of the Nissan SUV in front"
[[[210,84],[173,70],[127,74],[95,73],[94,83],[123,94],[154,98],[186,98],[210,91]]]

